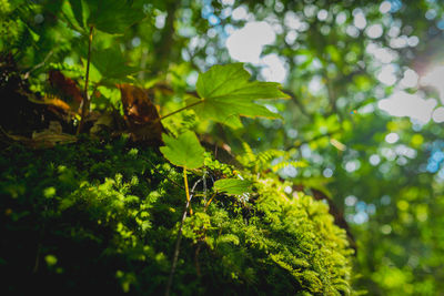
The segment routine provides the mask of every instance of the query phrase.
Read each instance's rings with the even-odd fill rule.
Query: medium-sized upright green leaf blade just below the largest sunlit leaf
[[[160,152],[172,164],[186,169],[198,169],[203,165],[205,151],[193,132],[186,131],[178,139],[163,134],[162,140],[165,145],[160,147]]]

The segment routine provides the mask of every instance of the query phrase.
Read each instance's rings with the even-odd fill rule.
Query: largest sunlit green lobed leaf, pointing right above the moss
[[[211,119],[232,127],[242,127],[239,116],[280,118],[265,106],[255,103],[259,99],[287,99],[279,83],[249,81],[250,73],[242,63],[214,65],[199,75],[196,91],[200,96],[189,104],[202,119]]]

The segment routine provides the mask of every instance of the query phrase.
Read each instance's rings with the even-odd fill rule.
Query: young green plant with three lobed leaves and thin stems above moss
[[[196,89],[200,98],[190,100],[186,106],[163,116],[163,119],[186,109],[193,109],[202,119],[210,119],[233,127],[239,127],[242,126],[239,120],[240,115],[279,116],[266,108],[256,104],[254,101],[258,99],[286,98],[286,95],[279,90],[279,84],[258,81],[250,82],[249,78],[250,74],[243,69],[241,63],[215,65],[199,76]],[[186,170],[199,169],[203,165],[204,150],[200,145],[195,134],[191,131],[180,134],[178,139],[165,134],[162,139],[165,144],[160,149],[162,154],[172,164],[183,167],[183,182],[186,193],[186,206],[179,229],[176,249],[174,252],[170,278],[167,285],[165,295],[169,295],[179,255],[182,226],[191,202]],[[244,180],[226,178],[216,181],[214,183],[215,193],[205,204],[205,210],[218,192],[242,195],[249,191],[250,186],[251,182]],[[192,207],[190,206],[190,215],[192,215]]]

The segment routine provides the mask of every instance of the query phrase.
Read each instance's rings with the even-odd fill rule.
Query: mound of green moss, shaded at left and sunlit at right
[[[211,178],[234,176],[205,163],[209,191]],[[159,154],[123,140],[82,140],[41,151],[10,146],[0,165],[8,294],[163,294],[185,195],[181,172]],[[350,294],[352,251],[327,206],[286,194],[289,184],[275,177],[242,175],[255,193],[218,195],[208,210],[196,186],[172,292]]]

